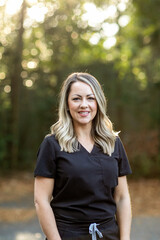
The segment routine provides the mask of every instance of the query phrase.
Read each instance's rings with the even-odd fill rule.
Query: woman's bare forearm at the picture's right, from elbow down
[[[117,202],[116,217],[120,229],[120,240],[130,240],[132,213],[129,195]]]

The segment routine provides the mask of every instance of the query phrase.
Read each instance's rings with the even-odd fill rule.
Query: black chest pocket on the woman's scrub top
[[[106,187],[113,188],[118,185],[118,162],[110,156],[99,158],[102,167],[103,182]]]

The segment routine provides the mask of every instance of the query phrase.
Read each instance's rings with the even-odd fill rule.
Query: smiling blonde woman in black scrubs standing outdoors
[[[90,74],[71,74],[34,173],[35,206],[46,238],[130,240],[130,173],[100,84]]]

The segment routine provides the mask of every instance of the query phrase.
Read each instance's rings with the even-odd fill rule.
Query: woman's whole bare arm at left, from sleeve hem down
[[[34,201],[38,219],[48,240],[61,240],[55,217],[50,206],[54,179],[36,177],[34,184]]]

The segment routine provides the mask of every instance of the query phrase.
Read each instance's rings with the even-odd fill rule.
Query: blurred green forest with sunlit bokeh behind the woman
[[[160,0],[0,0],[0,171],[33,171],[62,81],[89,72],[133,178],[160,176]]]

